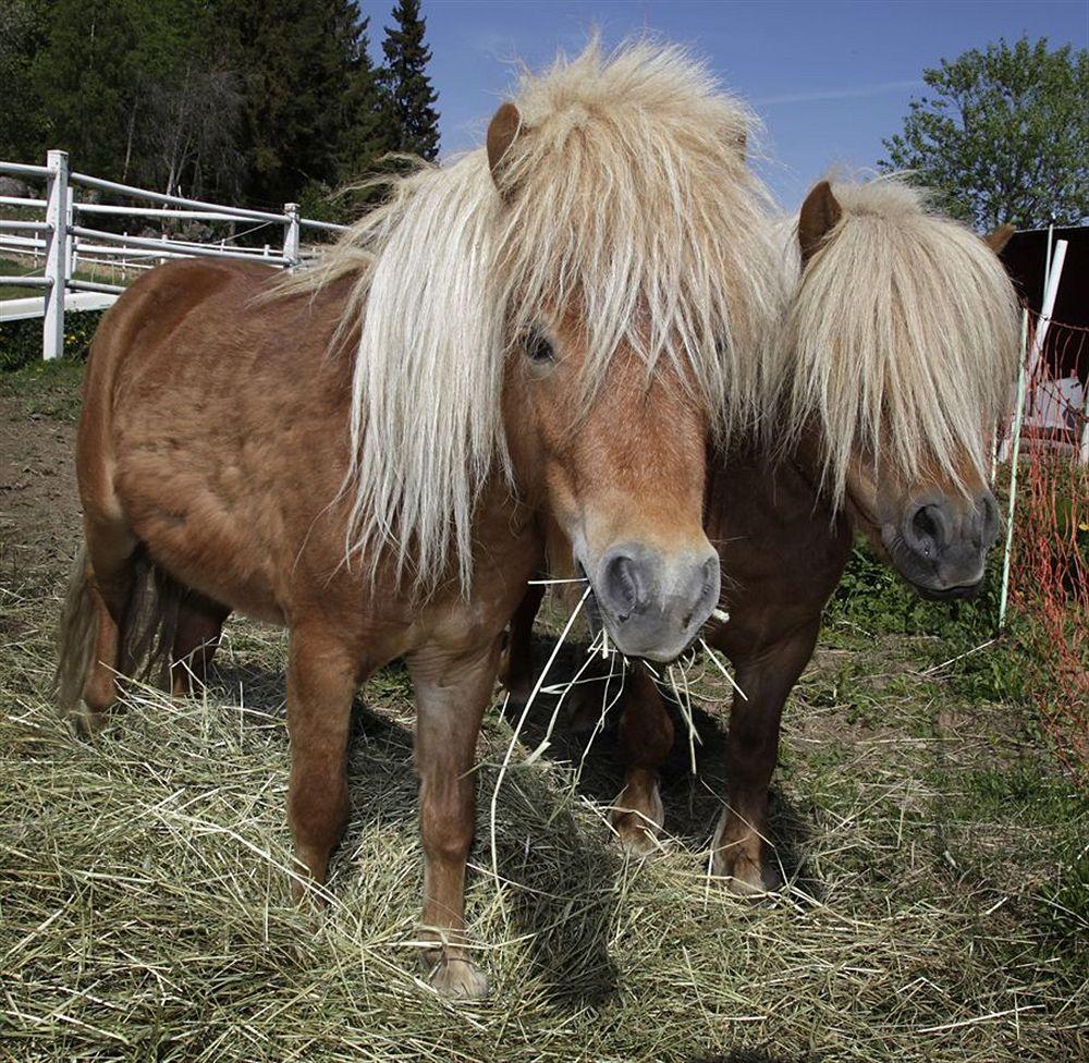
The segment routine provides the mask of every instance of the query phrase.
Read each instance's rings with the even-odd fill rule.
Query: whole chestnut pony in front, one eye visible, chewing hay
[[[119,672],[164,660],[184,694],[231,612],[286,626],[295,892],[320,900],[354,694],[403,658],[442,993],[486,990],[472,769],[542,528],[625,652],[675,657],[718,600],[707,442],[758,407],[781,306],[750,124],[680,49],[591,42],[525,72],[484,146],[394,180],[313,272],[176,261],[95,338],[60,702],[97,731]]]

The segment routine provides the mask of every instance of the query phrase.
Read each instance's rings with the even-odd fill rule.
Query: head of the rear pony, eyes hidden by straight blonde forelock
[[[798,219],[782,351],[793,431],[823,486],[921,594],[974,594],[999,517],[990,444],[1017,365],[998,252],[897,178],[822,181]]]

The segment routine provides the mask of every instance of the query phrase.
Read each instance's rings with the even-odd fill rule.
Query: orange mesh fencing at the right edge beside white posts
[[[1089,330],[1052,322],[1028,382],[1010,601],[1036,661],[1032,697],[1076,780],[1089,782]]]

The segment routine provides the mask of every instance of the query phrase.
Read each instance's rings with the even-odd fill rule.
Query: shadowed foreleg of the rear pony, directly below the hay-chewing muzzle
[[[619,737],[624,789],[613,802],[609,823],[617,844],[641,856],[658,848],[665,826],[658,769],[673,748],[673,721],[654,681],[638,664],[628,672],[622,698]]]

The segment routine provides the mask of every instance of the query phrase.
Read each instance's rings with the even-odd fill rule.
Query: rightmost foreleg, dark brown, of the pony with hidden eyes
[[[779,759],[779,724],[794,684],[812,657],[820,622],[796,630],[754,660],[737,667],[726,740],[726,807],[712,842],[711,871],[738,893],[778,889],[782,878],[770,856],[768,785]]]

